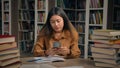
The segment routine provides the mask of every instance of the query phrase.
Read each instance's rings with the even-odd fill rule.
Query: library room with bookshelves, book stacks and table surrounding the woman
[[[78,58],[33,54],[53,7],[63,9],[78,32]],[[0,0],[0,68],[33,67],[119,68],[120,0]]]

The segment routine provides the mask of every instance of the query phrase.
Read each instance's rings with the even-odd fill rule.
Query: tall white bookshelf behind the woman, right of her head
[[[57,0],[55,6],[64,9],[70,21],[79,33],[81,57],[91,55],[90,35],[94,29],[107,28],[108,0]]]

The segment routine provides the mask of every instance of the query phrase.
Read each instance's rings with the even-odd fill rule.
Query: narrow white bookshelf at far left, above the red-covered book
[[[2,0],[2,34],[11,34],[11,1]]]

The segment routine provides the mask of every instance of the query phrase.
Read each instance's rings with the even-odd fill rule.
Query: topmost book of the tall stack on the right
[[[102,36],[120,36],[120,30],[96,29],[93,31],[93,34]]]

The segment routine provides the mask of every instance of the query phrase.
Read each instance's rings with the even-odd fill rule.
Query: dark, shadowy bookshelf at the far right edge
[[[120,30],[120,0],[108,0],[108,28]]]

